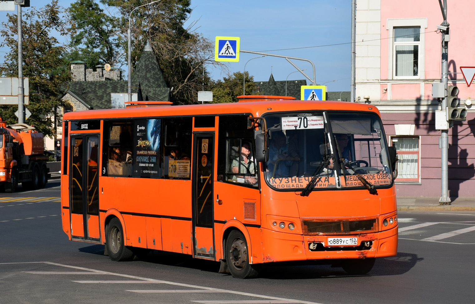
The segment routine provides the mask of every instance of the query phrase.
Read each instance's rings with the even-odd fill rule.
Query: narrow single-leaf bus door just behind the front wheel
[[[193,139],[193,247],[195,258],[215,259],[213,238],[214,134],[195,134]]]

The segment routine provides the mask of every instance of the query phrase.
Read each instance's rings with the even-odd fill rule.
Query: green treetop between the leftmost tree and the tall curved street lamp
[[[94,0],[77,0],[68,9],[71,27],[70,61],[83,60],[88,67],[126,63],[123,37],[117,36],[117,18],[104,12]],[[122,38],[122,39],[121,39]]]

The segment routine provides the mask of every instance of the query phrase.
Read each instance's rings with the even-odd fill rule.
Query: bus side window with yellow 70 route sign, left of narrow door
[[[163,119],[162,178],[190,179],[191,123],[190,118]]]

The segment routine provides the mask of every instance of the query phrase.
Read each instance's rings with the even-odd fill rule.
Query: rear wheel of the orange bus
[[[107,225],[106,246],[109,258],[113,261],[129,261],[133,258],[133,252],[124,245],[123,228],[119,219],[112,219]]]

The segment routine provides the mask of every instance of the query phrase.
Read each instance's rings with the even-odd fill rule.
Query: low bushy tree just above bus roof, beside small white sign
[[[235,72],[228,77],[223,77],[223,81],[218,80],[211,84],[213,91],[213,103],[222,102],[237,102],[237,96],[243,95],[244,83],[243,79],[246,77],[246,94],[255,94],[256,83],[254,83],[254,76],[249,76],[248,72]]]

